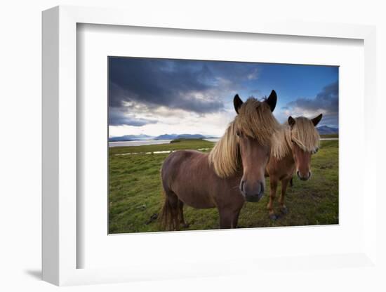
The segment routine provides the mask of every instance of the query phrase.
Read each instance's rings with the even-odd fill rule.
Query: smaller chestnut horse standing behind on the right
[[[281,195],[279,204],[282,213],[287,213],[284,205],[287,185],[291,183],[296,174],[300,180],[308,180],[311,177],[311,156],[319,149],[319,133],[315,126],[321,120],[322,114],[314,119],[305,117],[288,117],[288,124],[281,126],[280,130],[272,135],[271,157],[266,168],[266,176],[269,176],[269,203],[267,209],[269,218],[277,219],[273,211],[273,201],[276,196],[277,185],[281,181]]]

